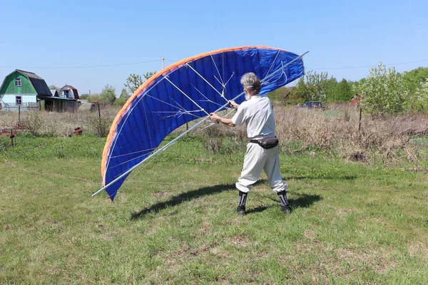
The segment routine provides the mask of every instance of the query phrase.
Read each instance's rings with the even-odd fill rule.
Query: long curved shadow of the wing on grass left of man
[[[213,195],[213,194],[223,192],[223,191],[228,191],[228,190],[236,190],[235,184],[215,185],[211,187],[203,187],[198,190],[184,192],[184,193],[181,193],[180,195],[171,197],[171,199],[169,199],[168,201],[158,202],[156,204],[153,204],[151,207],[142,209],[139,212],[131,214],[131,219],[140,219],[144,217],[146,214],[157,213],[163,209],[166,209],[167,207],[177,206],[178,204],[190,201],[192,199],[196,199],[198,197]]]

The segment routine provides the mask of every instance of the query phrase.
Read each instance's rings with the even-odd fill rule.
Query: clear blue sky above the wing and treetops
[[[0,80],[21,68],[48,85],[119,94],[130,73],[161,70],[162,57],[168,66],[248,45],[310,51],[306,69],[337,80],[364,78],[370,68],[357,67],[379,61],[428,66],[428,1],[58,2],[1,4]]]

